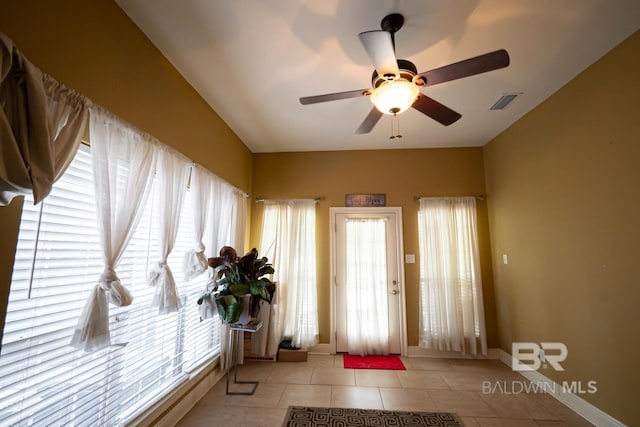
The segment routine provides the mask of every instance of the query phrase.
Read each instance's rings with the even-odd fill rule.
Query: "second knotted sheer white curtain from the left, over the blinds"
[[[158,307],[158,313],[166,314],[179,311],[182,307],[167,258],[178,235],[180,212],[187,191],[191,162],[166,148],[158,148],[156,151],[155,187],[158,200],[160,259],[149,271],[149,286],[155,287],[151,306]]]

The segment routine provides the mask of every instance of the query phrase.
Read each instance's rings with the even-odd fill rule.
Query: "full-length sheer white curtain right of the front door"
[[[474,197],[423,198],[420,346],[487,354]]]

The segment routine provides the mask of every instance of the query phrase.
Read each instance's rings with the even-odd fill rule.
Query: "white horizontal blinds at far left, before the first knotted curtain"
[[[90,168],[79,151],[44,202],[25,201],[0,355],[0,425],[69,423],[108,386],[108,355],[68,346],[86,283],[102,270]],[[98,420],[94,413],[87,424]]]

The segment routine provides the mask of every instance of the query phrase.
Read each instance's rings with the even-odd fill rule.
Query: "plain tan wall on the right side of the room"
[[[526,96],[526,94],[525,94]],[[500,346],[568,346],[555,381],[640,423],[640,32],[485,147]],[[502,265],[508,254],[508,265]]]

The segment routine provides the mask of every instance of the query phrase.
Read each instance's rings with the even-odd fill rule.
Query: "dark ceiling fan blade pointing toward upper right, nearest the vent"
[[[464,61],[454,62],[444,67],[435,68],[425,71],[419,75],[427,81],[424,86],[433,86],[438,83],[444,83],[451,80],[461,79],[463,77],[473,76],[475,74],[486,73],[487,71],[497,70],[509,65],[509,54],[506,50],[500,49],[494,52],[485,53],[484,55],[475,56],[465,59]]]

